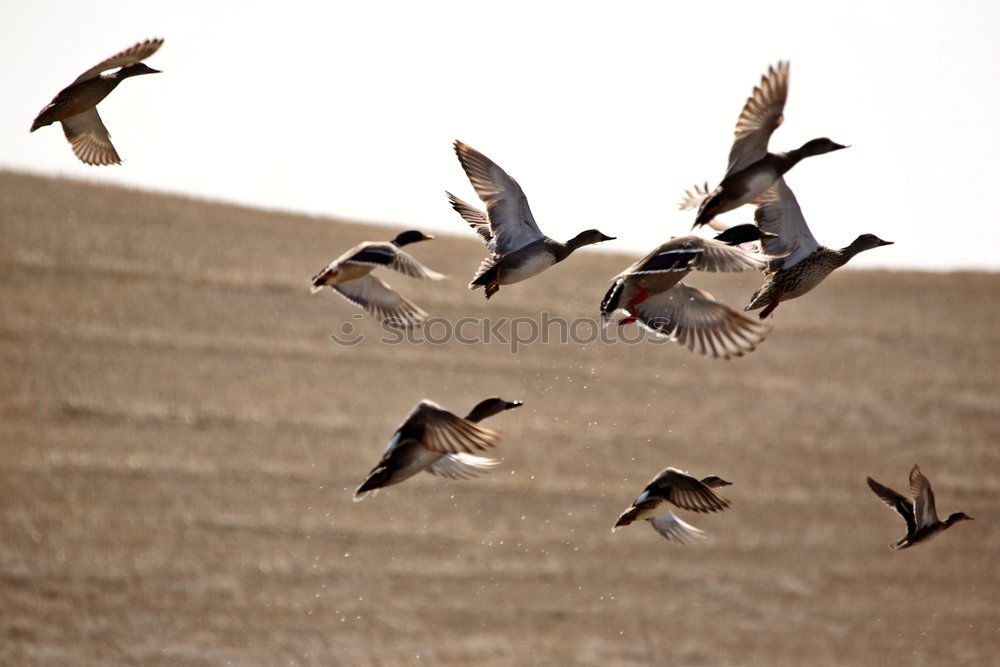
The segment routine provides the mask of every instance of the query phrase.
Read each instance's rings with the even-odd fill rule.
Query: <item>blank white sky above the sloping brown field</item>
[[[0,166],[471,238],[444,197],[476,201],[459,138],[550,236],[597,227],[643,251],[690,227],[681,192],[721,179],[744,100],[789,59],[771,148],[852,145],[788,178],[821,243],[896,242],[852,266],[1000,269],[998,2],[0,7]],[[100,107],[123,166],[81,164],[58,126],[28,133],[80,72],[157,36],[165,73]]]

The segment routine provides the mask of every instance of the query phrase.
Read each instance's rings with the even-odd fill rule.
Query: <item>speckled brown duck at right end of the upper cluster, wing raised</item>
[[[764,284],[744,308],[763,308],[761,319],[773,313],[782,301],[802,296],[819,285],[859,252],[892,245],[892,241],[883,241],[874,234],[862,234],[839,250],[821,246],[809,231],[784,178],[758,198],[754,219],[761,229],[772,234],[761,240],[765,252],[779,257],[771,262]]]

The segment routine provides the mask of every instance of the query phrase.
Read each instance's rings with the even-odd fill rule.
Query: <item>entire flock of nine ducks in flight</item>
[[[31,125],[31,131],[62,123],[73,153],[88,165],[120,164],[121,158],[97,112],[122,81],[155,74],[142,61],[163,44],[151,39],[125,49],[91,67],[59,92]],[[111,71],[114,70],[114,71]],[[819,244],[809,230],[798,201],[784,175],[807,157],[846,148],[828,138],[807,141],[784,152],[768,150],[771,134],[781,125],[788,97],[787,62],[769,68],[754,88],[736,123],[729,166],[714,190],[695,186],[685,193],[680,208],[697,209],[694,228],[709,226],[714,238],[689,234],[661,244],[612,279],[601,301],[601,319],[608,326],[623,312],[619,326],[638,323],[649,331],[676,340],[688,349],[729,359],[753,351],[770,331],[764,322],[782,301],[808,293],[830,273],[859,252],[890,245],[873,234],[862,234],[841,249]],[[469,283],[482,287],[487,299],[501,285],[523,282],[565,260],[587,245],[614,240],[596,229],[580,232],[565,243],[542,233],[521,186],[506,171],[471,146],[456,141],[455,153],[485,210],[446,193],[452,208],[482,239],[489,252]],[[755,207],[754,223],[728,226],[717,216],[744,205]],[[440,280],[444,276],[414,259],[402,248],[434,237],[406,231],[387,242],[365,242],[333,260],[312,279],[312,291],[329,287],[371,317],[398,327],[419,326],[427,317],[420,307],[397,294],[372,272],[386,268],[411,278]],[[763,285],[750,298],[746,311],[762,309],[758,320],[717,302],[710,294],[681,280],[692,271],[765,272]],[[450,479],[467,479],[499,464],[481,453],[494,447],[499,433],[479,425],[487,417],[520,407],[520,401],[487,398],[465,417],[423,400],[396,429],[381,460],[354,493],[359,501],[379,489],[428,472]],[[719,512],[729,501],[714,489],[730,486],[718,476],[698,479],[676,468],[666,468],[646,485],[622,513],[612,532],[645,519],[667,540],[689,543],[704,532],[688,524],[672,505],[690,512]],[[963,512],[941,521],[930,482],[913,466],[910,500],[871,477],[868,485],[906,522],[906,535],[892,549],[906,549],[973,517]]]

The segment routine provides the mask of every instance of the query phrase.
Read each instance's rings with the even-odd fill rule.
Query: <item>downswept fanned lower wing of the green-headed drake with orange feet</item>
[[[717,359],[752,352],[771,331],[763,322],[741,315],[711,294],[684,283],[650,295],[635,309],[646,329]]]

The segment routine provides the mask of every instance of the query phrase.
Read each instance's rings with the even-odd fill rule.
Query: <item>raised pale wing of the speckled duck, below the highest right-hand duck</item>
[[[783,257],[782,268],[791,268],[820,248],[812,235],[791,188],[784,178],[768,188],[755,202],[754,221],[765,232],[777,234],[776,238],[763,238],[761,244],[769,255]]]

